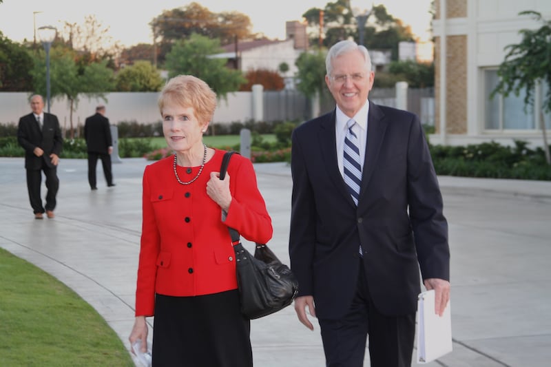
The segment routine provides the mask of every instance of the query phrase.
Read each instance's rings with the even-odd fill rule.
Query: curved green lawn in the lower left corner
[[[36,266],[0,249],[0,365],[134,366],[90,304]]]

